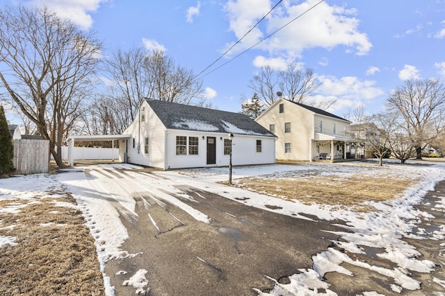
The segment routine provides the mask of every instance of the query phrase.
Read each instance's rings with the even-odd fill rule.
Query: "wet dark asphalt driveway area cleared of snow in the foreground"
[[[289,281],[300,268],[312,268],[312,255],[326,250],[327,223],[274,214],[201,189],[181,186],[183,199],[211,218],[202,223],[152,195],[138,197],[138,219],[122,217],[129,239],[122,248],[137,256],[109,261],[116,295],[133,295],[118,274],[147,270],[149,295],[257,295],[274,282]],[[179,197],[180,198],[180,197]]]

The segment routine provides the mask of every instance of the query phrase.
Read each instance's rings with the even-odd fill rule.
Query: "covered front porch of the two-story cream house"
[[[316,132],[311,141],[312,161],[343,162],[362,159],[357,149],[362,146],[362,141],[347,135]]]

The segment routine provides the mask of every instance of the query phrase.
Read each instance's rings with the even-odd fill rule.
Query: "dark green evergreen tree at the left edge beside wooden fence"
[[[15,171],[13,136],[8,128],[5,110],[0,105],[0,177],[9,175]]]

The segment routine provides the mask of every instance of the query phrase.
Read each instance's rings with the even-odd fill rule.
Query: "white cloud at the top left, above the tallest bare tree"
[[[47,6],[59,17],[70,19],[74,24],[86,30],[92,26],[92,17],[88,12],[95,12],[101,3],[108,0],[31,0],[27,3],[35,6]]]

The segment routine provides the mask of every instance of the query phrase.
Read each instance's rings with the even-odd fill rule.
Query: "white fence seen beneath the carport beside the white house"
[[[104,160],[104,159],[119,159],[119,148],[92,148],[92,147],[74,147],[74,160]],[[51,155],[51,159],[54,157]],[[62,160],[68,160],[68,147],[62,147]]]

